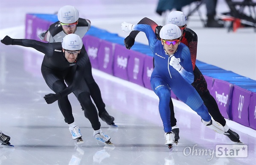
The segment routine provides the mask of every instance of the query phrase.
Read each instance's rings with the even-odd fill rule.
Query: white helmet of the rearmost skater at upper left
[[[79,19],[79,12],[74,6],[63,6],[58,11],[58,20],[61,23],[75,23]]]

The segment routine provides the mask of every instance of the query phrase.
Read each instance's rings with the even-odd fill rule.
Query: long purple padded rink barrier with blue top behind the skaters
[[[56,21],[54,14],[26,14],[26,38],[41,41],[38,34]],[[135,42],[128,50],[124,38],[94,26],[82,40],[93,68],[151,89],[153,55],[148,46]],[[30,55],[29,61],[35,61],[33,57]],[[223,117],[256,130],[256,81],[198,60],[196,65]],[[33,66],[31,71],[35,74],[35,66],[29,66]],[[25,66],[27,71],[29,66]],[[172,98],[177,99],[173,92]]]

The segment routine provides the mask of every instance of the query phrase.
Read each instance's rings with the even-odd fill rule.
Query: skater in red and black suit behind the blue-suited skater
[[[207,107],[209,114],[212,116],[212,118],[219,122],[222,126],[224,126],[225,129],[225,135],[230,138],[233,142],[240,142],[239,140],[239,134],[232,131],[226,123],[226,120],[221,115],[221,112],[218,108],[218,104],[215,101],[215,99],[210,94],[209,90],[207,89],[207,82],[201,73],[201,71],[198,69],[198,67],[195,65],[196,61],[196,55],[197,55],[197,43],[198,43],[198,36],[195,33],[195,31],[192,31],[192,29],[186,27],[186,15],[181,11],[172,11],[170,12],[168,16],[168,22],[176,24],[179,26],[181,32],[183,33],[181,43],[184,43],[186,46],[189,47],[190,53],[191,53],[191,60],[192,60],[192,66],[193,66],[193,72],[194,72],[194,82],[192,83],[192,86],[196,89],[198,94],[201,96],[202,100],[204,101],[204,105]],[[159,32],[160,29],[163,26],[158,26],[157,23],[155,23],[153,20],[148,19],[147,17],[140,20],[138,24],[148,24],[151,26],[151,28],[155,31],[155,34],[157,36],[157,39],[160,40]],[[139,31],[132,31],[128,37],[125,38],[124,43],[125,47],[130,49],[135,42],[135,37]],[[170,110],[171,110],[171,125],[172,125],[172,131],[175,133],[175,141],[178,142],[179,137],[179,127],[176,125],[176,118],[174,113],[174,107],[172,99],[170,100],[169,104]]]

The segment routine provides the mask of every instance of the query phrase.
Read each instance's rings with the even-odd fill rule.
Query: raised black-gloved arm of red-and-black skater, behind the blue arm
[[[153,31],[155,31],[155,28],[157,27],[157,23],[155,23],[153,20],[151,20],[151,19],[149,19],[147,17],[144,17],[137,24],[150,25]],[[134,45],[135,38],[139,34],[139,32],[140,31],[131,31],[131,33],[125,38],[124,43],[125,43],[125,47],[127,49],[130,49]]]

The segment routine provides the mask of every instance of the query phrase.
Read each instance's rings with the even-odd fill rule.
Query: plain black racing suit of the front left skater
[[[60,94],[58,106],[68,124],[74,122],[72,108],[67,95],[73,92],[84,109],[84,113],[90,120],[94,130],[100,129],[100,122],[96,107],[90,99],[90,90],[84,80],[93,82],[89,57],[84,48],[74,63],[69,63],[64,57],[61,43],[42,43],[36,40],[13,39],[12,45],[20,45],[35,48],[44,53],[44,60],[41,65],[41,72],[45,82],[52,91]],[[66,82],[67,85],[64,83]]]

